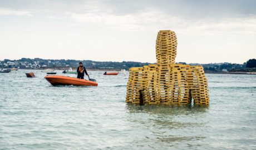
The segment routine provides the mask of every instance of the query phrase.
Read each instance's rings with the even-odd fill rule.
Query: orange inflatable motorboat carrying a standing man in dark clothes
[[[45,76],[45,79],[50,82],[53,86],[57,85],[73,85],[73,86],[98,86],[97,82],[88,81],[85,79],[78,79],[67,76]]]

